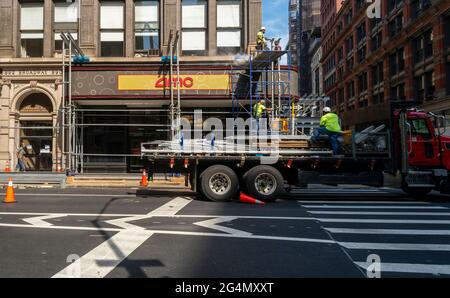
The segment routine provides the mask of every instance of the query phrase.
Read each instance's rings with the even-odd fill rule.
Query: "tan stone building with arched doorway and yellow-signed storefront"
[[[261,0],[0,0],[0,170],[23,143],[30,171],[64,170],[67,159],[77,171],[139,171],[141,142],[170,130],[170,45],[182,116],[226,117],[230,68],[255,48],[261,23]],[[61,33],[90,59],[70,76]]]

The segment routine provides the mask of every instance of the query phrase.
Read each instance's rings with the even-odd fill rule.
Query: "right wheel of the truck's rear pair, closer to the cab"
[[[246,191],[260,201],[274,202],[283,193],[284,178],[274,167],[256,166],[244,177]]]

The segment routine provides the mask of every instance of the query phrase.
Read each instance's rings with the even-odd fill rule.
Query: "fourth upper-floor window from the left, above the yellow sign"
[[[159,1],[134,3],[134,49],[140,54],[159,55]]]

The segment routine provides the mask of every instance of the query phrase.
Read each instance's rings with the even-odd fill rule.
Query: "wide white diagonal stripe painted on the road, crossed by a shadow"
[[[129,221],[151,218],[153,214],[175,215],[190,202],[191,200],[178,197],[147,215],[107,221],[107,223],[124,228],[124,230],[115,234],[53,277],[105,277],[153,235],[152,231],[130,224],[128,223]]]

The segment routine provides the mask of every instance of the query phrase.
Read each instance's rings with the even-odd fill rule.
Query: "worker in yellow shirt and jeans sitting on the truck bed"
[[[329,107],[325,107],[323,113],[324,115],[320,118],[320,127],[314,130],[311,141],[317,142],[317,138],[320,135],[328,135],[333,154],[338,155],[340,150],[338,138],[342,134],[339,117],[332,113]]]

